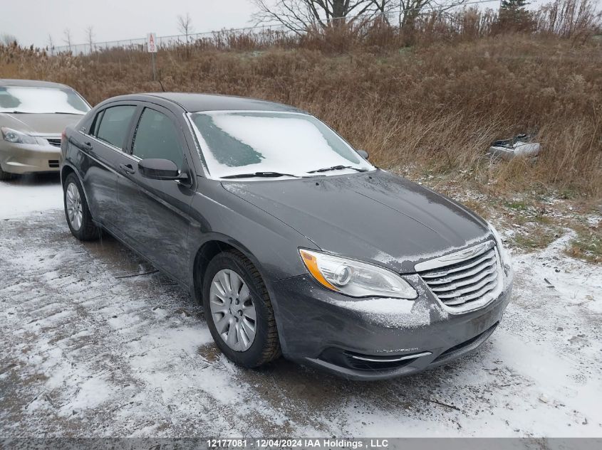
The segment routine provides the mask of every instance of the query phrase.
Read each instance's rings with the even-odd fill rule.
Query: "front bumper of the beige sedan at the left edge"
[[[56,146],[13,144],[0,140],[0,166],[8,173],[58,172],[61,149]]]

